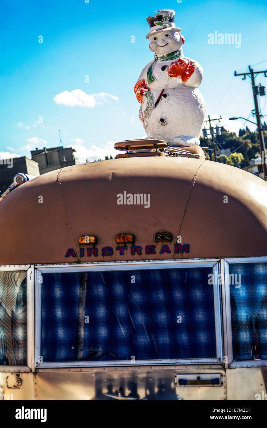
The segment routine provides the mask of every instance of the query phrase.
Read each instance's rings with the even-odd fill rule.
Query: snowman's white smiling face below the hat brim
[[[177,51],[183,45],[180,33],[177,30],[165,30],[154,33],[149,37],[150,51],[157,55],[165,55]]]

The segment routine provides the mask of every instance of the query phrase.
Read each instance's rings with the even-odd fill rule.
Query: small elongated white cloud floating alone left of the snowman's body
[[[108,98],[119,101],[119,97],[108,94],[107,92],[100,92],[99,94],[87,94],[81,89],[74,89],[72,92],[60,92],[54,96],[53,101],[56,104],[64,104],[66,107],[95,107],[96,104],[103,104],[107,102]]]

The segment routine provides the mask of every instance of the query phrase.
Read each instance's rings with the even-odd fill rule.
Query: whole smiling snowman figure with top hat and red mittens
[[[195,146],[206,114],[198,86],[203,70],[183,55],[184,37],[175,27],[173,10],[160,10],[146,18],[150,25],[150,50],[154,61],[141,72],[135,95],[141,104],[139,119],[149,137],[169,146]]]

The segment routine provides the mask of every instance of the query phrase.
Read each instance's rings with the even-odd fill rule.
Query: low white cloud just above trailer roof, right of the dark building
[[[90,149],[87,149],[85,146],[80,146],[77,144],[71,144],[67,147],[72,147],[72,149],[76,150],[74,153],[75,158],[79,163],[85,163],[86,159],[90,161],[105,159],[105,156],[112,156],[113,158],[119,153],[114,149],[115,141],[108,141],[108,143],[104,147],[97,147],[92,145]]]

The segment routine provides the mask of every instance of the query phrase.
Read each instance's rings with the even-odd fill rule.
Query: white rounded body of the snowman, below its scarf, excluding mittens
[[[192,61],[192,59],[184,56],[181,58],[186,62]],[[144,118],[143,126],[148,136],[158,140],[165,140],[169,145],[195,145],[195,140],[192,141],[193,144],[189,144],[189,140],[187,140],[187,144],[183,144],[183,141],[178,140],[178,137],[196,137],[199,139],[201,134],[206,107],[198,86],[202,81],[203,71],[201,65],[194,61],[195,71],[189,77],[189,80],[183,83],[180,77],[169,77],[167,68],[162,71],[162,67],[164,65],[169,66],[171,62],[173,60],[167,62],[156,61],[153,65],[153,75],[156,80],[153,83],[147,83],[147,70],[152,62],[143,69],[138,79],[145,79],[153,95],[154,104],[162,89],[165,88],[159,104],[152,110],[147,119]],[[147,98],[143,98],[140,117],[144,117],[148,103]],[[165,122],[160,122],[161,119],[165,119]]]

